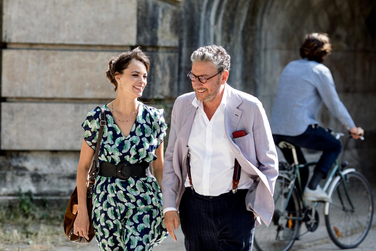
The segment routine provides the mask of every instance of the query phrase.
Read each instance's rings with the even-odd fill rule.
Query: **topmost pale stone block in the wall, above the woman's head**
[[[4,0],[3,42],[134,45],[137,0]]]

